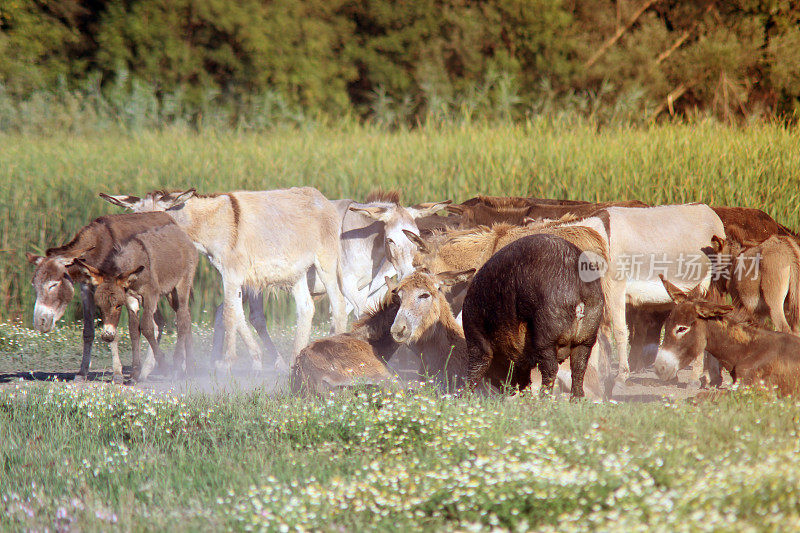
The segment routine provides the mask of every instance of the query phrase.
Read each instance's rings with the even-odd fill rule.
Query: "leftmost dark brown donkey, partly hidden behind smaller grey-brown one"
[[[26,254],[28,261],[36,267],[33,271],[33,288],[36,291],[33,327],[37,331],[46,333],[53,329],[75,294],[74,284],[81,284],[83,358],[76,381],[86,378],[92,361],[95,306],[94,287],[82,269],[74,264],[75,259],[82,257],[88,265],[103,269],[106,265],[110,266],[117,241],[164,225],[175,225],[172,217],[166,213],[108,215],[78,230],[69,243],[50,248],[44,257]],[[159,327],[163,325],[164,319],[160,313],[156,320]],[[111,349],[112,353],[116,351],[116,342],[112,343]]]

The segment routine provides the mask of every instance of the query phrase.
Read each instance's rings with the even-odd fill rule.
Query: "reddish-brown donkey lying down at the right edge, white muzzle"
[[[800,391],[800,338],[763,329],[730,305],[704,299],[697,288],[684,293],[662,279],[677,305],[666,322],[656,373],[672,379],[703,350],[716,357],[734,381],[761,382],[782,394]]]

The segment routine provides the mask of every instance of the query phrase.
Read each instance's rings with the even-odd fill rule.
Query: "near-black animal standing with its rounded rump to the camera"
[[[571,393],[584,396],[589,354],[603,318],[600,280],[580,275],[581,249],[554,235],[530,235],[494,254],[464,299],[469,380],[520,390],[538,367],[541,392],[552,392],[559,364],[570,360]]]

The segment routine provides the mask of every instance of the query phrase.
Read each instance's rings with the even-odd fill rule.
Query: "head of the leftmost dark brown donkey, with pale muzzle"
[[[36,292],[33,327],[36,331],[47,333],[64,316],[67,305],[75,295],[69,273],[73,259],[58,255],[42,257],[30,252],[25,256],[36,267],[33,271],[33,290]]]

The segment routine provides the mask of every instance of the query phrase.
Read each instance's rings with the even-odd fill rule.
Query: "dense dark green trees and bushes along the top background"
[[[796,117],[798,49],[790,0],[5,0],[0,129]]]

